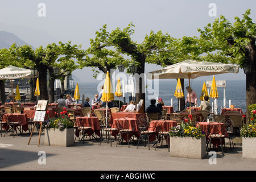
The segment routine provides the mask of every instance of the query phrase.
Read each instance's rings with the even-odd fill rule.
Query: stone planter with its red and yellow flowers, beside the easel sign
[[[43,122],[44,144],[51,146],[73,146],[75,128],[74,123],[66,115],[67,110],[56,114],[55,118],[49,118]]]

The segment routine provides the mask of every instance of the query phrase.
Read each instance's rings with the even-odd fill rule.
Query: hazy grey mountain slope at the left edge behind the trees
[[[0,31],[0,49],[2,48],[10,48],[13,43],[16,43],[19,46],[29,45],[23,40],[19,39],[18,36],[13,33]],[[33,48],[33,47],[32,47]]]

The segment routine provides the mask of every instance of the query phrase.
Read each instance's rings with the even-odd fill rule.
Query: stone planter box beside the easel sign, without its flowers
[[[48,146],[69,147],[74,145],[75,129],[45,129],[44,144]]]

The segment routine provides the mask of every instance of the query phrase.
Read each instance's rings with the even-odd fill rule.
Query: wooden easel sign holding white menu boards
[[[35,116],[34,116],[34,126],[30,134],[30,140],[32,137],[32,134],[35,129],[36,122],[40,122],[40,132],[39,132],[39,139],[38,139],[38,146],[40,144],[40,138],[42,133],[42,124],[44,122],[44,119],[46,117],[46,106],[47,106],[47,100],[38,101],[38,106],[36,107]],[[30,144],[30,140],[28,140],[28,144]]]

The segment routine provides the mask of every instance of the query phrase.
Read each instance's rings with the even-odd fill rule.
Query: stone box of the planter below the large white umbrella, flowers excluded
[[[170,156],[179,158],[204,159],[206,138],[170,137]]]

